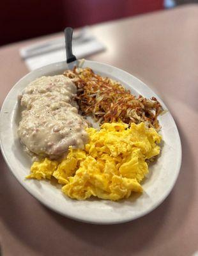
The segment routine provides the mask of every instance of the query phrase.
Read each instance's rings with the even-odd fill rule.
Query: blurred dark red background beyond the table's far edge
[[[66,26],[121,19],[198,0],[7,0],[1,1],[0,45],[63,31]]]

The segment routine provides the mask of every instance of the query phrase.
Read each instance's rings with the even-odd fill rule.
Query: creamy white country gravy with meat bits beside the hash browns
[[[63,75],[40,77],[20,96],[22,111],[18,134],[27,151],[57,158],[69,146],[83,148],[88,142],[87,122],[73,100],[77,88]]]

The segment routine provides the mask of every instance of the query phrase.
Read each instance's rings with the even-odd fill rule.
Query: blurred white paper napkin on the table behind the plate
[[[84,58],[96,52],[105,50],[98,38],[86,27],[78,33],[73,33],[73,54],[77,58]],[[50,63],[66,60],[65,38],[56,38],[38,44],[31,44],[20,49],[20,56],[24,59],[29,70],[43,67]]]

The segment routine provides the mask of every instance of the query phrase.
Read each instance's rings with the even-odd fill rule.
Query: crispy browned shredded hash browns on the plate
[[[91,68],[74,67],[64,75],[77,86],[76,99],[82,115],[93,116],[99,124],[122,120],[126,124],[144,122],[160,129],[157,117],[163,109],[155,97],[136,97],[117,81],[99,76]]]

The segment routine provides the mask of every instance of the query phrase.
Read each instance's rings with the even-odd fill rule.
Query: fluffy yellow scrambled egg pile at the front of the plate
[[[144,123],[103,124],[100,131],[87,129],[89,143],[84,150],[69,148],[61,162],[47,158],[34,162],[27,178],[51,179],[63,184],[70,198],[84,200],[90,196],[120,200],[142,192],[141,180],[148,173],[146,159],[160,154],[161,136]]]

